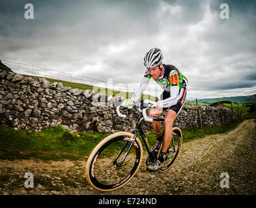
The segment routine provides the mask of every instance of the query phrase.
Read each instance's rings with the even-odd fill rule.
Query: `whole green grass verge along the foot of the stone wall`
[[[247,119],[255,119],[256,113],[247,116]],[[203,127],[198,129],[193,126],[188,130],[182,130],[183,142],[189,142],[195,138],[203,138],[207,135],[226,133],[235,129],[244,119],[220,125],[216,127]],[[92,149],[109,134],[101,133],[69,133],[61,126],[43,129],[42,131],[15,130],[5,125],[0,125],[0,159],[42,159],[44,161],[70,161],[84,160]],[[140,136],[139,136],[140,137]],[[156,135],[147,135],[150,147],[156,141]],[[141,141],[142,142],[142,141]],[[145,146],[143,144],[143,149]],[[117,151],[117,149],[113,149]]]

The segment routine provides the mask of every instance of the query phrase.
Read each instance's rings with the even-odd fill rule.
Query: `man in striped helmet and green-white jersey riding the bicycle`
[[[165,154],[169,148],[171,138],[173,135],[173,122],[177,118],[180,110],[182,109],[186,100],[186,87],[188,80],[180,71],[173,65],[162,63],[163,55],[162,51],[157,47],[150,49],[144,57],[144,65],[147,68],[145,75],[139,85],[139,88],[135,90],[131,99],[126,99],[122,103],[125,107],[130,107],[132,103],[135,103],[144,90],[147,88],[149,81],[152,77],[158,85],[160,85],[164,92],[156,99],[156,101],[150,101],[152,109],[149,110],[150,116],[160,116],[164,110],[167,110],[167,114],[164,120],[164,140],[160,155],[156,162],[147,166],[150,171],[156,171],[162,167]],[[153,121],[152,126],[156,131],[156,144],[155,148],[162,137],[162,129],[160,121]]]

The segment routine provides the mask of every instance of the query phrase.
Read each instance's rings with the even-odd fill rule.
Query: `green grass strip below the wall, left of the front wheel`
[[[71,134],[61,126],[42,131],[0,126],[0,159],[78,160],[88,156],[107,134]]]

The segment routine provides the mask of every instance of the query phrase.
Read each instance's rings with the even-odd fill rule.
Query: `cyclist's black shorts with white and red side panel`
[[[156,99],[156,101],[170,98],[170,96],[171,96],[170,92],[167,92],[167,91],[164,90],[164,92],[162,92],[162,94],[160,95],[160,97],[158,97]],[[177,102],[177,104],[173,105],[173,106],[171,106],[169,108],[163,108],[163,110],[171,109],[171,110],[174,110],[177,113],[177,115],[178,115],[180,110],[182,109],[185,101],[186,101],[186,96],[187,96],[187,89],[186,88],[181,88],[180,89],[180,93],[178,95],[178,102]]]

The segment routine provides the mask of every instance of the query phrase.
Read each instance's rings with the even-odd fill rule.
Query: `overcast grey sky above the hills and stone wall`
[[[255,94],[255,40],[256,1],[0,1],[0,59],[136,88],[145,53],[159,47],[188,78],[189,98]]]

